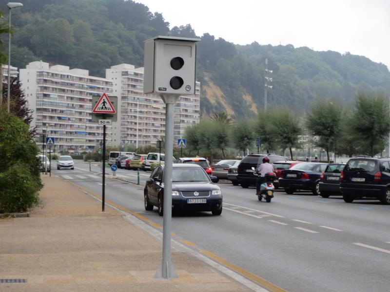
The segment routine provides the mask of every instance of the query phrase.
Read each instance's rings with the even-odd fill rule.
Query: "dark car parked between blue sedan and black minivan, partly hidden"
[[[325,171],[320,176],[320,196],[328,198],[331,195],[341,195],[340,175],[345,163],[328,164]]]

